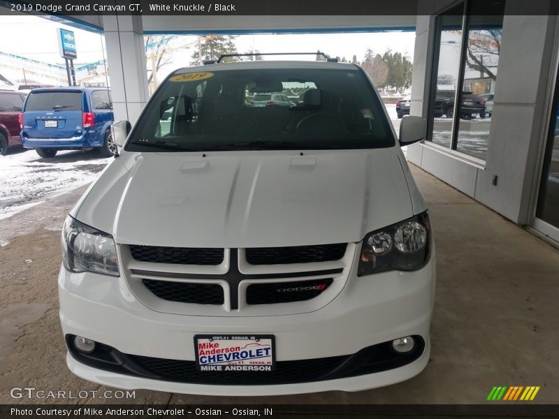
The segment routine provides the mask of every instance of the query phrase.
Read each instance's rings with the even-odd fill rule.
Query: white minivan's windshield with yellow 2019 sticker
[[[368,149],[395,144],[357,68],[214,70],[172,75],[126,150]]]

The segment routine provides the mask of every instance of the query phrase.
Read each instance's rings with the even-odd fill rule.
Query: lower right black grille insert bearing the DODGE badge
[[[251,284],[247,287],[247,304],[275,304],[311,300],[319,296],[333,282],[332,278],[312,281]]]

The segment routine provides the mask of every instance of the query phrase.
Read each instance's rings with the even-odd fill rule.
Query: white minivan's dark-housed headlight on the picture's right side
[[[421,269],[429,260],[430,236],[427,211],[369,233],[363,239],[358,276]]]

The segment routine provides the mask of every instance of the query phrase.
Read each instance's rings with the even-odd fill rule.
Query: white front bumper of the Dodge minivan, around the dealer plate
[[[435,287],[435,253],[415,272],[350,274],[342,292],[321,309],[279,316],[187,316],[154,311],[131,293],[122,277],[59,274],[60,320],[64,335],[79,335],[120,353],[164,360],[194,361],[194,335],[274,335],[276,361],[339,357],[399,337],[416,335],[425,346],[406,365],[386,371],[304,383],[222,385],[166,381],[131,372],[108,371],[76,360],[71,371],[89,381],[117,388],[146,388],[204,395],[282,395],[324,390],[357,391],[404,381],[428,362],[429,328]],[[80,357],[77,357],[80,358]],[[83,360],[82,360],[83,361]],[[204,374],[201,372],[200,374]]]

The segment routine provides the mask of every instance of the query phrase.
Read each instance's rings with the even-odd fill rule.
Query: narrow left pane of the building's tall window
[[[440,43],[437,69],[437,90],[432,102],[434,110],[433,142],[451,146],[454,97],[460,70],[460,45],[462,44],[463,3],[440,15]],[[433,101],[433,98],[431,99]]]

